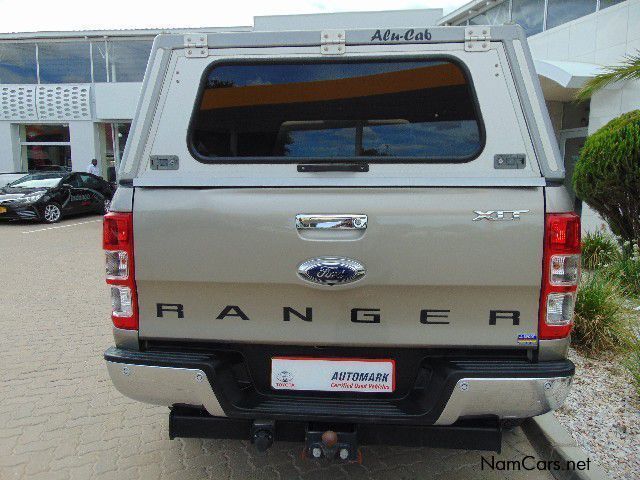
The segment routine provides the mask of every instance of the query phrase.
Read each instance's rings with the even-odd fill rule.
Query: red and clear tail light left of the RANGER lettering
[[[138,329],[138,300],[133,261],[133,214],[104,216],[102,247],[107,284],[111,286],[111,320],[117,328]]]

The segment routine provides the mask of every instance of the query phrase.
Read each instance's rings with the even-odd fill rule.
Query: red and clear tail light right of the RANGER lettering
[[[580,217],[575,213],[549,213],[545,217],[540,296],[541,340],[564,338],[571,332],[579,280]]]

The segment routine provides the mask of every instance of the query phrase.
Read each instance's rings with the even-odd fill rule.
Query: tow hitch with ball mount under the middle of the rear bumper
[[[358,434],[355,430],[353,432],[307,430],[303,457],[362,462],[362,454],[358,449]]]

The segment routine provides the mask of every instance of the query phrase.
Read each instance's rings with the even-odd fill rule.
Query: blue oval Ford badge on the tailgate
[[[300,278],[328,287],[357,282],[366,272],[364,265],[357,260],[341,257],[311,258],[298,267]]]

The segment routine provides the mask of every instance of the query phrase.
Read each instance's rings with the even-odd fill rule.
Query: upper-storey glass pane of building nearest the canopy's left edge
[[[141,82],[152,44],[152,40],[110,41],[109,81]]]

